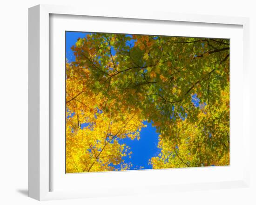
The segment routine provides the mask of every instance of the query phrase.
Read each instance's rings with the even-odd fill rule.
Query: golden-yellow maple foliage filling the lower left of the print
[[[80,69],[66,66],[66,172],[113,171],[115,165],[129,169],[131,163],[124,163],[122,157],[131,154],[130,148],[118,140],[140,138],[145,127],[141,115],[136,109],[125,108],[119,110],[121,113],[103,112],[101,94],[84,89],[88,82],[83,79],[89,72],[81,73]]]

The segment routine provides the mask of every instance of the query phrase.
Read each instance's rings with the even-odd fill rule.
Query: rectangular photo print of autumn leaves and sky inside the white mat
[[[65,43],[66,173],[229,166],[229,39]]]

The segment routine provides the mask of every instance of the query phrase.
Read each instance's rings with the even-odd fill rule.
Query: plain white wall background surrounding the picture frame
[[[251,128],[256,114],[256,6],[254,0],[6,0],[0,4],[0,204],[256,204],[255,131],[251,129],[251,187],[131,197],[38,202],[27,197],[28,7],[59,4],[124,10],[198,13],[250,18]],[[242,81],[241,81],[242,83]],[[242,84],[241,84],[242,86]],[[243,150],[241,150],[243,152]],[[191,176],[193,177],[193,176]]]

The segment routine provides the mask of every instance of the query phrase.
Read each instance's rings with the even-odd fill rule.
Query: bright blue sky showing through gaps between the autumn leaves
[[[88,32],[66,32],[66,59],[68,62],[74,61],[74,52],[71,50],[71,46],[75,44],[78,38],[84,38]],[[133,40],[128,42],[133,44]],[[115,51],[111,51],[115,55]],[[131,158],[124,157],[125,163],[131,162],[133,167],[131,169],[151,169],[152,165],[148,164],[148,160],[157,156],[160,153],[160,149],[157,148],[158,144],[158,133],[156,128],[152,126],[150,122],[143,122],[147,124],[146,128],[141,129],[141,139],[140,140],[130,140],[129,138],[120,140],[121,143],[124,143],[131,147],[130,151],[133,152]]]

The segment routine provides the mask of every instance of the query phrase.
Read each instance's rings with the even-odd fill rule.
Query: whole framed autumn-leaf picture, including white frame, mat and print
[[[248,52],[246,18],[30,8],[29,196],[249,186]]]

